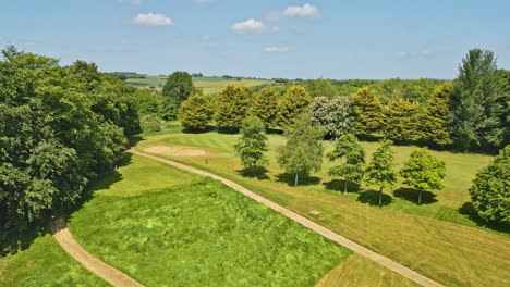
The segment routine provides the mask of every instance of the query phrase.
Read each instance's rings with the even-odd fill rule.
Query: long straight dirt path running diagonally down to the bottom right
[[[235,184],[234,182],[232,180],[229,180],[227,178],[223,178],[221,176],[218,176],[216,174],[211,174],[211,173],[208,173],[208,172],[205,172],[205,171],[202,171],[202,170],[198,170],[198,169],[195,169],[195,167],[192,167],[192,166],[189,166],[189,165],[185,165],[185,164],[182,164],[182,163],[178,163],[178,162],[174,162],[174,161],[170,161],[170,160],[166,160],[166,159],[161,159],[159,157],[156,157],[156,155],[151,155],[151,154],[147,154],[147,153],[144,153],[144,152],[139,152],[135,149],[130,149],[127,152],[131,152],[133,154],[137,154],[137,155],[142,155],[142,157],[145,157],[145,158],[148,158],[148,159],[153,159],[153,160],[156,160],[156,161],[159,161],[159,162],[162,162],[162,163],[167,163],[167,164],[170,164],[170,165],[173,165],[178,169],[181,169],[181,170],[184,170],[184,171],[189,171],[189,172],[192,172],[192,173],[196,173],[196,174],[201,174],[201,175],[204,175],[204,176],[208,176],[208,177],[211,177],[214,179],[217,179],[217,180],[220,180],[221,183],[223,183],[224,185],[227,186],[230,186],[232,187],[233,189],[242,192],[243,195],[263,203],[264,205],[267,205],[271,209],[274,209],[275,211],[278,211],[280,213],[282,213],[283,215],[286,215],[287,217],[300,223],[301,225],[305,226],[305,227],[308,227],[311,228],[312,230],[323,235],[324,237],[327,237],[329,238],[330,240],[365,257],[365,258],[368,258],[369,260],[372,261],[375,261],[377,263],[379,263],[380,265],[396,272],[396,273],[399,273],[400,275],[422,285],[422,286],[427,286],[427,287],[438,287],[438,286],[444,286],[415,271],[412,271],[411,269],[400,264],[400,263],[397,263],[394,261],[392,261],[391,259],[389,258],[386,258],[379,253],[376,253],[372,250],[369,250],[368,248],[366,247],[363,247],[293,211],[290,211],[266,198],[263,198],[260,197],[259,195]]]

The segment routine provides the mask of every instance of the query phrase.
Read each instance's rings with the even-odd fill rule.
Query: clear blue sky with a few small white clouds
[[[106,72],[454,78],[472,48],[510,70],[510,1],[16,0],[5,45]]]

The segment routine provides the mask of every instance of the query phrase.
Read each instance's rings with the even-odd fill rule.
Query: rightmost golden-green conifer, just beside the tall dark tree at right
[[[451,89],[451,83],[438,86],[420,115],[420,121],[417,121],[420,137],[439,147],[452,144],[447,123]]]

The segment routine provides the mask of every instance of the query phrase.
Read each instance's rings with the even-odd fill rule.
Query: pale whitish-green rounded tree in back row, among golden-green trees
[[[348,97],[317,97],[309,104],[314,123],[325,127],[332,138],[351,133],[354,125],[352,107]]]

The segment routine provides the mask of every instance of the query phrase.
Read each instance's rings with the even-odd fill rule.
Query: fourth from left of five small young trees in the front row
[[[372,160],[366,167],[366,182],[379,187],[379,207],[382,205],[382,189],[393,188],[397,183],[398,173],[393,166],[393,151],[391,140],[384,140],[381,146],[372,153]]]

